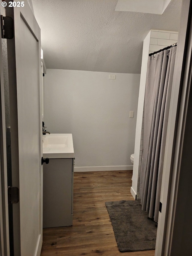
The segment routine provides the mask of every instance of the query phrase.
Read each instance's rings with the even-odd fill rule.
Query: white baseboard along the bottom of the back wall
[[[126,171],[126,170],[133,170],[133,165],[74,167],[74,172]]]

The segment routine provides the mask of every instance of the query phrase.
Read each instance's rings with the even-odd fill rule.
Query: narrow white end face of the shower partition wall
[[[139,100],[138,100],[138,108],[137,108],[137,123],[136,123],[135,149],[134,149],[134,166],[133,166],[131,191],[137,191],[137,184],[138,184],[137,181],[138,181],[138,173],[139,173],[141,129],[142,129],[142,122],[143,122],[143,105],[144,105],[144,97],[145,97],[145,86],[146,86],[150,37],[151,37],[151,31],[149,31],[149,33],[147,34],[146,38],[143,41],[143,55],[142,55],[142,64],[141,64]],[[131,192],[131,194],[132,194],[132,192]]]

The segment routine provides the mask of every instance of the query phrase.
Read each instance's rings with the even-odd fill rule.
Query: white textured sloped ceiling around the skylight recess
[[[140,73],[150,29],[178,31],[181,0],[162,15],[115,11],[118,0],[32,0],[47,68]]]

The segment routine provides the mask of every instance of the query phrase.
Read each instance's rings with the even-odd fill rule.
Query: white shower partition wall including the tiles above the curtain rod
[[[143,41],[143,56],[141,66],[140,91],[137,110],[137,124],[135,135],[134,168],[131,194],[139,197],[141,156],[143,152],[143,105],[145,98],[146,74],[149,53],[177,43],[178,32],[152,29]]]

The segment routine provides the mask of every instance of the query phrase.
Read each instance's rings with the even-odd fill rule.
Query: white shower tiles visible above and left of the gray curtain
[[[161,50],[167,46],[177,43],[178,32],[166,31],[166,30],[151,30],[149,53]],[[143,153],[143,122],[141,129],[141,142],[140,142],[140,155],[139,155],[139,169],[138,169],[138,181],[137,181],[137,198],[140,197],[139,185],[140,185],[140,170],[141,170],[141,157]]]

